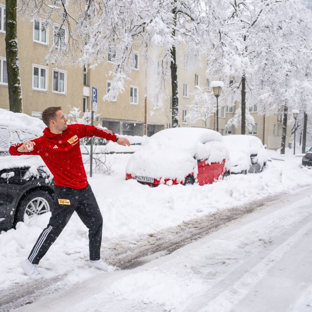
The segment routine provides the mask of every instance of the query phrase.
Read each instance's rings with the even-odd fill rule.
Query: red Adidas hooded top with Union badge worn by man
[[[32,140],[36,142],[31,152],[19,153],[20,144],[13,144],[9,152],[20,156],[39,155],[54,176],[54,184],[68,188],[85,188],[88,185],[87,175],[82,163],[79,139],[97,136],[115,142],[116,135],[100,127],[85,124],[69,124],[61,134],[52,133],[49,128],[44,129],[43,136]]]

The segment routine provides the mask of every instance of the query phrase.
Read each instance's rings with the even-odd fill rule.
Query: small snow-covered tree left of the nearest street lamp
[[[189,112],[186,118],[191,124],[202,120],[205,123],[205,128],[207,128],[207,119],[217,110],[216,100],[212,94],[204,92],[203,88],[200,87],[193,95],[193,104],[188,106]]]

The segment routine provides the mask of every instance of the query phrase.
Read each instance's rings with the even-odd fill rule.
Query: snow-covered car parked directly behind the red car
[[[232,174],[261,172],[268,161],[266,149],[254,135],[226,135],[223,142],[230,153]]]

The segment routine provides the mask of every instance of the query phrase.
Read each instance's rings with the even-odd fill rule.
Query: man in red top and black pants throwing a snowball
[[[82,163],[79,140],[97,136],[130,145],[126,138],[117,137],[112,131],[85,124],[66,124],[61,107],[48,107],[42,112],[47,128],[43,136],[29,142],[14,144],[11,155],[38,155],[54,177],[54,202],[49,224],[42,231],[22,269],[33,280],[43,278],[37,269],[41,258],[60,235],[74,211],[89,229],[89,266],[100,270],[113,270],[112,266],[100,259],[103,218],[95,196],[87,181]]]

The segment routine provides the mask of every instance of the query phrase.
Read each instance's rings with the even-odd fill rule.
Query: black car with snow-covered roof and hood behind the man
[[[50,211],[52,175],[39,156],[11,156],[9,147],[42,135],[44,123],[0,109],[0,231]]]

